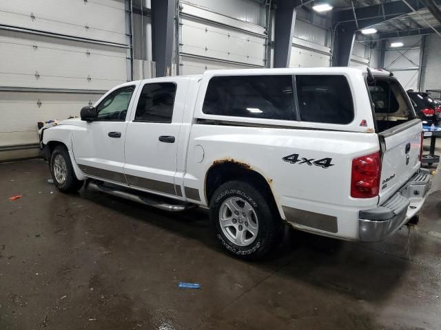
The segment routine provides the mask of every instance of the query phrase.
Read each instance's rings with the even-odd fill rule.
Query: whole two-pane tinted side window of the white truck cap
[[[205,93],[203,113],[349,124],[354,107],[343,75],[214,76]]]

